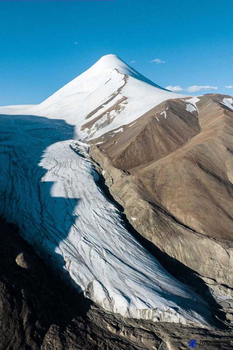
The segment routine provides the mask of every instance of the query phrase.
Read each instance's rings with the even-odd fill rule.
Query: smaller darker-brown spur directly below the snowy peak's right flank
[[[185,107],[183,100],[167,100],[124,125],[123,132],[108,132],[91,143],[101,142],[100,150],[124,170],[160,159],[200,131],[197,111],[190,113]]]

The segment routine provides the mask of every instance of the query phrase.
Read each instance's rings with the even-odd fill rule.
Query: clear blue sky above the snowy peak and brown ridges
[[[0,105],[40,103],[110,53],[163,87],[233,95],[232,18],[225,0],[0,1]]]

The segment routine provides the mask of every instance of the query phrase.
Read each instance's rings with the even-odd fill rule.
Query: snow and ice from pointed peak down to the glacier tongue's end
[[[86,144],[73,139],[77,132],[82,135],[82,118],[122,82],[112,60],[118,70],[126,69],[111,55],[110,66],[105,66],[105,56],[41,105],[0,108],[0,214],[19,225],[41,257],[103,308],[126,317],[208,324],[207,304],[126,230],[121,214],[96,183],[94,166],[75,151],[81,145],[88,152]],[[103,85],[107,76],[110,90],[105,90],[108,83]],[[139,78],[133,76],[131,86],[139,99],[141,84],[140,99],[151,105],[141,106],[129,89],[130,111],[136,114],[138,108],[143,114],[152,103],[175,95]],[[87,97],[91,92],[92,101]],[[122,121],[113,122],[114,128],[137,117],[124,114],[125,119],[122,115]]]

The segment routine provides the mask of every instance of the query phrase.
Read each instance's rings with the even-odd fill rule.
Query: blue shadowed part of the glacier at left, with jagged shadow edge
[[[58,246],[77,217],[73,212],[79,198],[52,196],[53,182],[42,181],[48,169],[39,163],[48,146],[74,137],[74,127],[27,115],[1,114],[0,124],[0,214],[19,226],[21,236],[58,275],[70,278]]]

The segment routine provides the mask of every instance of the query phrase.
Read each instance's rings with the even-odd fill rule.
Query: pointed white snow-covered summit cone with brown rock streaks
[[[116,55],[106,55],[44,102],[26,106],[21,113],[61,118],[75,126],[76,134],[81,139],[90,140],[131,123],[164,100],[184,96],[162,89]],[[125,100],[119,102],[123,97]],[[118,104],[120,108],[114,109]],[[111,108],[113,110],[109,112]],[[13,111],[6,107],[2,110],[4,112],[11,114]],[[92,116],[85,119],[90,114]],[[87,128],[81,130],[83,124],[100,115],[101,119],[91,131]]]

